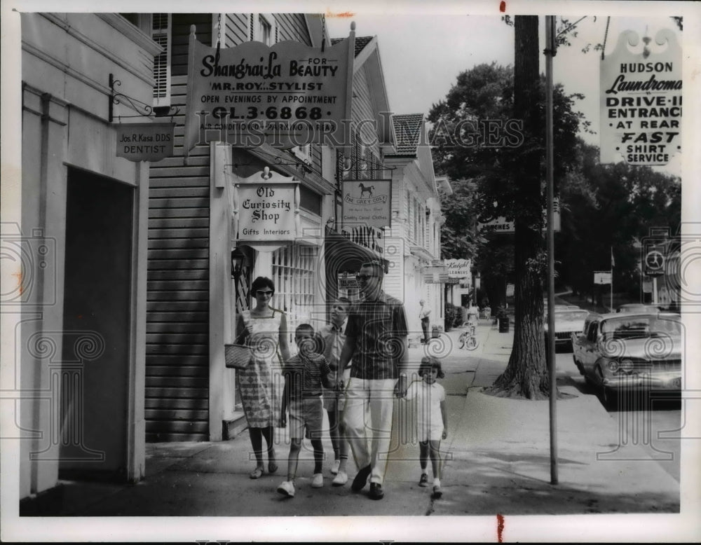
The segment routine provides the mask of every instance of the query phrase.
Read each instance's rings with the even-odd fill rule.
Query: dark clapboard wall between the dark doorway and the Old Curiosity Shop
[[[151,164],[147,441],[209,439],[209,146],[183,160],[187,36],[210,43],[212,15],[173,14],[174,156]]]

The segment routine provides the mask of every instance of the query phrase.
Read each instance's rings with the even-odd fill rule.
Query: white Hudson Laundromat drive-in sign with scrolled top
[[[623,32],[601,61],[601,163],[666,165],[681,151],[681,48],[668,29],[642,41]]]

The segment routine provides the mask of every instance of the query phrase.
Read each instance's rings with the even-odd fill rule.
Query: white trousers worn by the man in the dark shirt
[[[346,386],[343,422],[358,469],[372,467],[371,483],[382,484],[392,436],[394,378],[351,378]]]

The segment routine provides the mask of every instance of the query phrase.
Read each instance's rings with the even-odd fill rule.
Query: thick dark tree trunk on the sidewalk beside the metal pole
[[[525,139],[510,168],[520,212],[515,217],[515,327],[509,363],[488,390],[496,396],[547,399],[548,371],[543,343],[543,286],[538,255],[544,130],[538,115],[538,17],[515,18],[514,116],[524,120]]]

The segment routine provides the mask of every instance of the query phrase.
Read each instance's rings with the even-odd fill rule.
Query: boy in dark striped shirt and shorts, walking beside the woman
[[[278,486],[278,492],[294,497],[294,478],[297,476],[299,450],[305,436],[311,440],[314,450],[314,476],[312,488],[324,485],[322,464],[324,447],[321,442],[324,406],[321,401],[322,385],[334,388],[331,370],[326,358],[315,351],[314,328],[300,324],[294,331],[297,352],[285,364],[285,389],[280,420],[285,422],[285,411],[290,413],[290,456],[287,458],[287,481]]]

